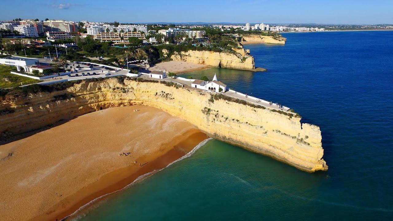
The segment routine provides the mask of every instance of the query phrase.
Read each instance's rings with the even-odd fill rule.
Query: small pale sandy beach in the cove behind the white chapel
[[[149,70],[160,70],[166,72],[173,72],[173,73],[185,73],[191,72],[196,70],[204,70],[210,68],[208,65],[204,64],[194,64],[185,61],[165,61],[161,63],[157,63],[154,66],[150,67]]]

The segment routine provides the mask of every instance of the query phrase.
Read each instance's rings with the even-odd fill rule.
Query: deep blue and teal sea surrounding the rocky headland
[[[285,33],[258,67],[184,74],[295,109],[319,125],[329,170],[306,173],[210,140],[81,220],[393,220],[393,31]]]

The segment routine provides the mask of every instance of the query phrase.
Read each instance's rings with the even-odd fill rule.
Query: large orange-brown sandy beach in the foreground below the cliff
[[[85,114],[1,145],[1,220],[60,220],[165,168],[206,138],[180,118],[136,105]]]

